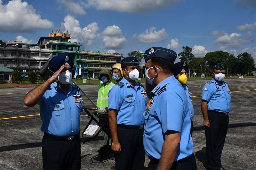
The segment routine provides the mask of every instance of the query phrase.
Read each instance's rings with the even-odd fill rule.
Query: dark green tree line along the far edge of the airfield
[[[178,54],[179,59],[180,61],[188,63],[188,69],[191,69],[191,74],[196,72],[199,74],[204,73],[205,76],[212,76],[213,67],[217,63],[222,63],[225,66],[227,76],[248,75],[252,70],[256,70],[254,59],[252,55],[247,52],[234,56],[225,51],[214,51],[206,53],[204,57],[195,57],[195,55],[192,54],[191,47],[182,47],[182,50],[183,51]],[[139,64],[143,59],[143,53],[138,51],[132,51],[127,55],[136,56],[139,60]]]

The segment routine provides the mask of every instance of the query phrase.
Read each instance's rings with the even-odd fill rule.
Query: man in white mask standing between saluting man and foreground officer
[[[124,78],[108,93],[108,118],[115,152],[116,169],[144,168],[143,127],[147,95],[139,78],[138,59],[125,57],[121,61]]]

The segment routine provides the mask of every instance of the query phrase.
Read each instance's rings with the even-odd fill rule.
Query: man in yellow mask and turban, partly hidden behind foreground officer
[[[188,85],[186,85],[187,82],[187,76],[186,73],[188,72],[188,64],[186,62],[180,61],[178,63],[174,64],[174,76],[177,78],[177,80],[181,83],[183,89],[185,90],[188,103],[189,103],[189,112],[190,112],[190,118],[191,118],[191,129],[190,129],[190,135],[193,134],[193,117],[194,117],[194,107],[192,104],[192,93],[188,91]]]

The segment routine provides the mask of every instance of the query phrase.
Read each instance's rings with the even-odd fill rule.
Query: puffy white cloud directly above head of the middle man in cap
[[[118,26],[108,26],[101,33],[104,44],[101,46],[106,49],[122,49],[124,42],[127,41],[122,35],[122,30]]]

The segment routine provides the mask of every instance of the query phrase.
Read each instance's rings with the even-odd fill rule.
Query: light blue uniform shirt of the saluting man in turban
[[[80,130],[80,112],[83,112],[82,103],[75,102],[75,96],[80,95],[76,85],[68,84],[66,94],[54,82],[38,100],[41,130],[55,136],[71,136]]]

